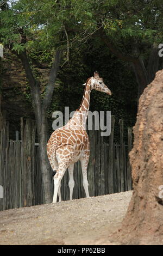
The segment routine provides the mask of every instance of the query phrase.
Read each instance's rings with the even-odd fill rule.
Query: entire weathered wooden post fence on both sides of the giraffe
[[[90,161],[87,168],[90,196],[100,196],[132,189],[128,153],[132,147],[132,130],[128,128],[128,145],[123,139],[123,120],[120,125],[120,144],[114,144],[115,117],[111,117],[109,143],[101,131],[89,131]],[[9,123],[4,120],[0,132],[0,185],[3,198],[0,210],[42,204],[42,178],[39,145],[35,143],[35,121],[21,118],[21,141],[9,140]],[[62,200],[70,198],[68,171],[61,182]],[[74,167],[73,198],[85,197],[80,162]]]

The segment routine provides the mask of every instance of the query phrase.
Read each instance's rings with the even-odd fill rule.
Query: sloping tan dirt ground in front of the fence
[[[131,191],[0,212],[0,245],[116,245]]]

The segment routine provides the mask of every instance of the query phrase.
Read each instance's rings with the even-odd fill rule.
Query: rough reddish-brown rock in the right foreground
[[[163,70],[156,73],[140,97],[129,156],[133,197],[119,231],[120,240],[124,244],[162,245]]]

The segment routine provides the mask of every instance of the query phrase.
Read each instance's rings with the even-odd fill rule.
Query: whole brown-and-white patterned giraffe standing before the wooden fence
[[[79,108],[65,126],[58,128],[52,133],[47,143],[48,159],[52,169],[56,172],[53,177],[53,203],[57,202],[57,196],[59,196],[59,202],[61,202],[61,179],[67,168],[70,176],[68,182],[70,200],[72,200],[74,187],[73,168],[74,163],[78,160],[82,166],[83,187],[86,197],[89,197],[87,165],[89,163],[90,143],[85,126],[90,106],[90,93],[92,89],[95,89],[111,95],[111,91],[105,86],[103,78],[99,77],[98,72],[95,72],[94,76],[88,78],[83,85],[85,86],[84,95]]]

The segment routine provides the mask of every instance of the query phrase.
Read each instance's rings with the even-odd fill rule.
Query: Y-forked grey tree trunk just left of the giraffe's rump
[[[24,70],[26,71],[26,77],[29,81],[29,86],[32,92],[33,107],[36,119],[37,136],[40,143],[40,167],[43,184],[43,203],[52,203],[52,172],[51,166],[47,157],[46,144],[48,141],[48,130],[47,130],[47,110],[52,100],[54,83],[57,78],[61,60],[61,50],[55,53],[54,61],[52,64],[51,72],[49,75],[49,82],[46,87],[46,94],[41,103],[39,82],[35,80],[32,69],[29,65],[26,51],[17,54],[22,61]]]

